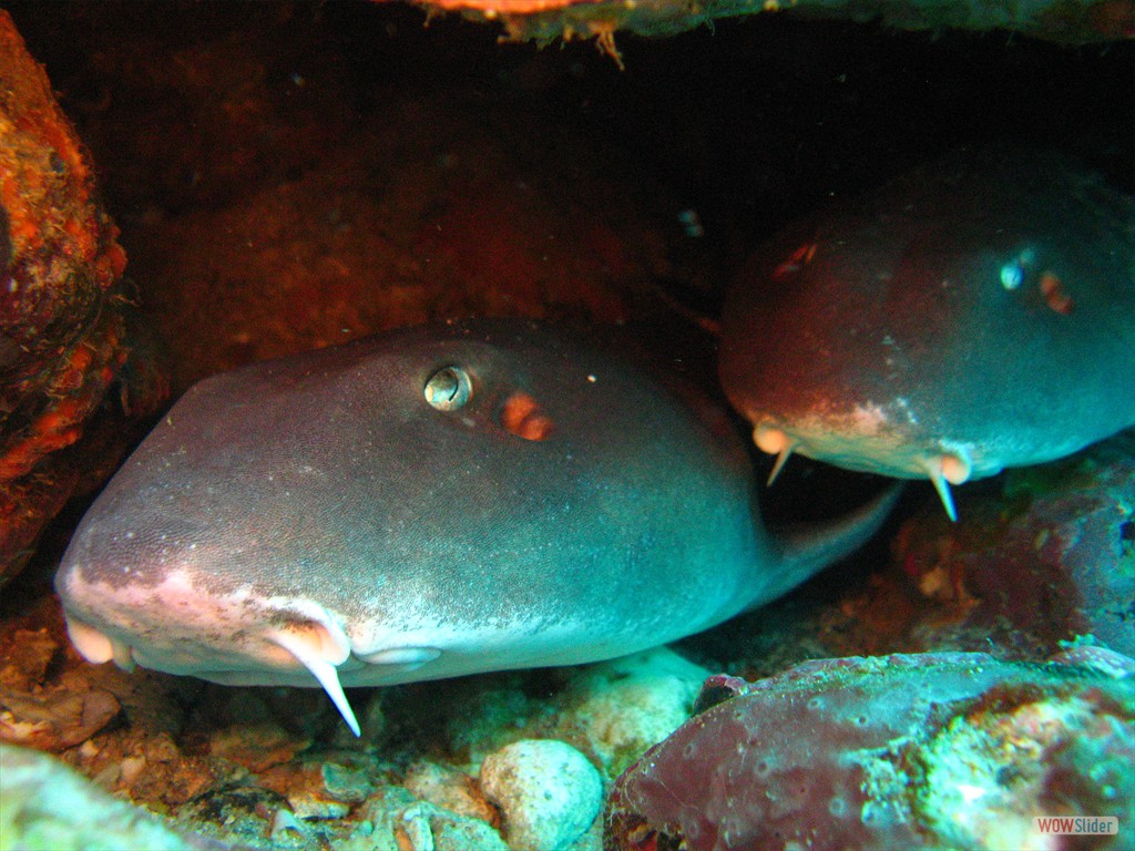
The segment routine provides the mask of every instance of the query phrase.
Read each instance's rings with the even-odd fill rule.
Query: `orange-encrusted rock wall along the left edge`
[[[83,466],[61,450],[83,436],[129,348],[118,228],[96,199],[94,170],[51,83],[7,11],[0,11],[0,79],[3,583],[81,485]],[[140,386],[126,406],[148,413],[162,388]]]

